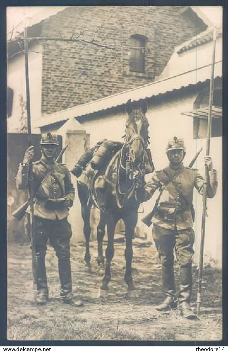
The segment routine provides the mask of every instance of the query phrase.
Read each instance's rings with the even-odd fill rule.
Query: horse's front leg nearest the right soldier
[[[124,219],[125,223],[125,238],[126,238],[126,247],[125,247],[125,261],[126,269],[124,279],[128,285],[128,295],[131,298],[137,298],[138,293],[133,284],[131,264],[133,258],[133,249],[132,249],[132,239],[134,238],[135,226],[137,224],[138,214],[137,212],[131,211],[128,216]]]

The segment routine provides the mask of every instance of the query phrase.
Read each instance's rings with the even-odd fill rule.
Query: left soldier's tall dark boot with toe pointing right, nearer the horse
[[[61,283],[61,296],[64,303],[71,304],[72,306],[82,306],[82,302],[76,299],[72,294],[72,278],[70,259],[58,260],[58,274]]]

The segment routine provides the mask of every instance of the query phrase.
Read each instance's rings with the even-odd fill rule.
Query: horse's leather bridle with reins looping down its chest
[[[131,156],[131,144],[133,143],[134,140],[140,140],[143,145],[143,154],[142,154],[142,162],[138,165],[138,170],[141,172],[142,176],[142,182],[144,181],[144,175],[146,173],[145,171],[145,162],[144,162],[144,154],[147,149],[147,143],[145,143],[144,138],[140,134],[133,134],[133,136],[128,140],[127,136],[124,137],[124,145],[121,149],[121,152],[118,157],[117,161],[117,178],[116,178],[116,201],[117,205],[120,209],[123,208],[125,201],[130,199],[130,197],[133,195],[136,187],[136,180],[133,182],[131,181],[131,184],[129,185],[129,181],[132,180],[132,173],[135,170],[134,168],[134,163],[132,161],[132,156]],[[123,165],[122,160],[124,159],[123,153],[124,151],[127,150],[126,152],[126,167]],[[120,172],[122,170],[125,170],[125,189],[122,191],[120,187]],[[120,199],[122,197],[122,200]]]

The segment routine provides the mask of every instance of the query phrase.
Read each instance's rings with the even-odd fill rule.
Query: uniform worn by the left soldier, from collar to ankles
[[[34,199],[34,227],[35,227],[35,251],[36,251],[36,272],[37,272],[37,289],[48,295],[48,285],[45,269],[45,254],[47,250],[47,241],[53,246],[58,258],[58,272],[61,282],[61,295],[69,296],[72,292],[72,278],[70,268],[70,238],[72,236],[71,226],[67,220],[68,208],[64,202],[51,203],[48,206],[48,200],[58,200],[66,198],[70,201],[69,206],[74,201],[74,186],[71,182],[70,173],[65,165],[57,164],[55,161],[49,163],[47,159],[42,158],[33,163],[33,183]],[[53,170],[53,171],[52,171]],[[50,174],[45,178],[45,175]],[[27,189],[29,186],[29,166],[19,165],[16,177],[16,186],[18,189]],[[44,182],[41,184],[41,181]],[[41,186],[37,187],[41,184]],[[27,210],[25,219],[26,226],[30,224],[30,209]]]

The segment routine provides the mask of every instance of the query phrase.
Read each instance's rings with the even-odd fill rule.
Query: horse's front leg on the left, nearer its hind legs
[[[107,296],[108,292],[108,284],[111,280],[111,262],[114,256],[114,233],[116,227],[117,219],[114,218],[111,214],[107,216],[107,236],[108,236],[108,244],[105,251],[106,257],[106,266],[105,266],[105,274],[102,279],[102,285],[100,287],[100,296]]]

